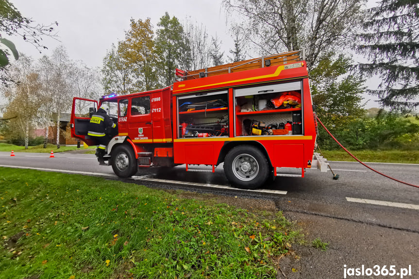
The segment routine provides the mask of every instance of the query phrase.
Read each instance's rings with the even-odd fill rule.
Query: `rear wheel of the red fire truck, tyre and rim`
[[[268,179],[268,161],[254,146],[237,146],[225,157],[224,173],[237,188],[256,189]]]

